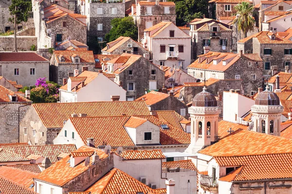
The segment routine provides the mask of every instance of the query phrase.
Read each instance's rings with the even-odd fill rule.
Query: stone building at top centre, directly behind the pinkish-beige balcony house
[[[138,41],[144,37],[144,31],[164,20],[175,24],[176,12],[174,2],[136,1],[131,7],[131,14],[138,26]]]

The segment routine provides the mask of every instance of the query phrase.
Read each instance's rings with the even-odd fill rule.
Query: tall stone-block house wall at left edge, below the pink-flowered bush
[[[0,104],[0,144],[18,142],[18,107],[31,103],[2,103]],[[21,120],[30,106],[19,109]]]

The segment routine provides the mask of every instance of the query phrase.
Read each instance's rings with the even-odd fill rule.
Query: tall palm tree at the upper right
[[[233,24],[237,25],[237,30],[244,33],[244,37],[247,36],[247,32],[254,29],[254,23],[256,20],[253,18],[254,6],[246,1],[238,3],[235,7],[236,18],[233,20]]]

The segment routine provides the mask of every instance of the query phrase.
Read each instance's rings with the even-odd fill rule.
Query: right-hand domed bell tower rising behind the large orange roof
[[[257,95],[255,105],[252,106],[253,130],[280,136],[282,112],[279,97],[267,86],[265,91]]]

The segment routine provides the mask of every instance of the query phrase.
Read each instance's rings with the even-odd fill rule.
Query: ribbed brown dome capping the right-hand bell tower
[[[269,86],[266,87],[266,90],[259,93],[256,97],[256,105],[280,105],[279,97],[272,91],[269,90]]]

